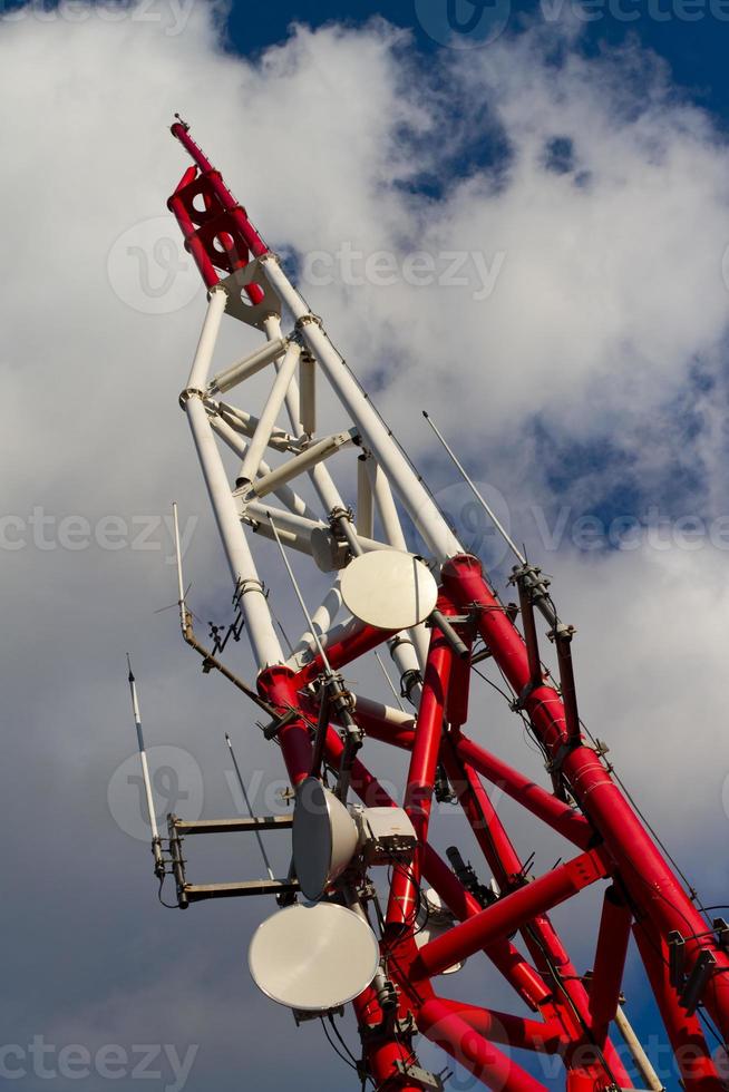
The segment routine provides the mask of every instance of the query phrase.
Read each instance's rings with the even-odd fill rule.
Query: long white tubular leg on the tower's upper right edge
[[[359,389],[344,361],[321,328],[319,320],[313,316],[309,318],[309,308],[286,277],[275,256],[269,254],[262,261],[271,283],[294,318],[297,320],[309,319],[309,321],[300,323],[304,341],[327,373],[340,401],[362,432],[377,461],[386,470],[429,549],[440,563],[456,554],[464,553],[460,543],[438,511],[432,498],[418,481],[400,449],[388,435],[388,430],[377,416],[369,399]]]

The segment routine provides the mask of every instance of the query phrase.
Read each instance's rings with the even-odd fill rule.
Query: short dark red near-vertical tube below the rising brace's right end
[[[615,887],[605,890],[595,965],[590,985],[590,1015],[595,1039],[602,1045],[615,1018],[623,981],[633,915]]]

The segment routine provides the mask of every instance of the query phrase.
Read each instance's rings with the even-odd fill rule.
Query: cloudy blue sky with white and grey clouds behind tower
[[[706,900],[729,897],[729,12],[499,0],[474,20],[459,2],[455,31],[445,0],[0,3],[0,1057],[22,1092],[351,1076],[318,1025],[294,1032],[251,985],[266,907],[158,905],[128,782],[130,651],[148,743],[177,749],[153,752],[178,777],[163,806],[235,812],[226,730],[259,806],[283,786],[254,711],[155,613],[175,598],[172,498],[203,623],[231,594],[177,407],[204,295],[165,208],[186,166],[175,110],[495,579],[505,559],[422,408],[553,576],[583,715]],[[230,322],[221,363],[253,343]],[[262,569],[294,626],[270,552]],[[244,642],[230,662],[251,675]],[[479,695],[474,733],[538,774]],[[552,844],[499,807],[550,867]],[[459,837],[455,812],[438,821],[443,844]],[[201,878],[261,867],[253,847],[208,852]],[[586,968],[594,923],[577,904],[560,920]],[[454,995],[484,1000],[482,969]],[[629,986],[659,1036],[633,971]]]

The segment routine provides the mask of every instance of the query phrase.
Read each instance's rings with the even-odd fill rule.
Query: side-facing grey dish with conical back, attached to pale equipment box
[[[333,792],[307,778],[297,790],[292,840],[297,879],[303,895],[317,901],[354,856],[359,829]]]

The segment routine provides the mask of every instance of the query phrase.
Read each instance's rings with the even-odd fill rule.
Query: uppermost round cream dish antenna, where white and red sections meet
[[[438,599],[426,565],[399,549],[373,549],[347,566],[342,598],[352,614],[379,630],[409,630],[425,622]]]

